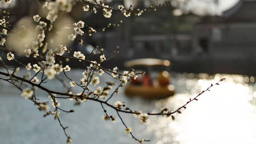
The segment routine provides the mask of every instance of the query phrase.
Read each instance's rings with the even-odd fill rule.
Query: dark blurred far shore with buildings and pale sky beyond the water
[[[122,13],[114,13],[111,18],[105,18],[101,12],[81,12],[82,5],[78,3],[70,13],[74,22],[82,20],[94,29],[119,20],[124,23],[84,37],[83,46],[74,43],[71,48],[86,54],[99,46],[108,58],[120,46],[113,65],[119,68],[123,68],[126,60],[161,58],[170,60],[176,72],[255,75],[255,0],[106,0],[106,3],[113,7],[132,4],[140,9],[160,3],[170,6],[141,16],[126,18]],[[6,7],[17,13],[44,13],[36,1],[28,4],[13,0]],[[11,24],[20,18],[11,18]]]

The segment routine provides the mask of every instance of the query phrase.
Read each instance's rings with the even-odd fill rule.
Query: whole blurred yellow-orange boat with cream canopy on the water
[[[126,96],[140,96],[148,99],[161,99],[174,95],[174,86],[170,84],[170,77],[167,71],[158,72],[156,80],[152,78],[150,73],[153,72],[152,67],[160,66],[170,68],[168,60],[160,60],[155,58],[142,58],[130,60],[124,63],[126,67],[145,67],[146,74],[142,78],[132,79],[125,87]]]

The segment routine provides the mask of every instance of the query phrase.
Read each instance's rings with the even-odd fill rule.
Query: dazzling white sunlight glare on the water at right
[[[221,78],[219,86],[198,97],[198,101],[187,105],[182,114],[176,114],[176,120],[156,117],[148,120],[147,132],[154,132],[160,139],[157,144],[174,142],[177,144],[255,144],[256,143],[256,111],[254,84],[248,77],[239,75],[216,74],[212,79],[207,74],[198,76],[203,79],[189,79],[178,76],[176,83],[186,84],[189,92],[176,94],[168,100],[156,103],[156,108],[182,106],[189,98],[194,98],[198,91],[206,90]],[[253,78],[251,78],[253,79]],[[188,88],[189,86],[189,88]],[[193,90],[195,89],[195,90]],[[158,125],[155,125],[155,123]],[[161,140],[162,139],[162,140]]]

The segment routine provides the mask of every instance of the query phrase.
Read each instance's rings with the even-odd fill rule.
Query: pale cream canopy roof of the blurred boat
[[[140,58],[135,60],[129,60],[124,63],[125,67],[132,66],[170,66],[169,60],[161,60],[156,58]]]

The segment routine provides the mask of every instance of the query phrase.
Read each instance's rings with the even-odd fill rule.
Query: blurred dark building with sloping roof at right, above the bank
[[[222,16],[202,19],[193,30],[194,48],[214,59],[256,59],[256,0],[241,0]]]

